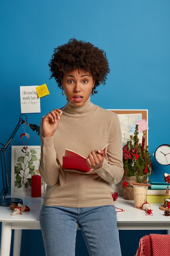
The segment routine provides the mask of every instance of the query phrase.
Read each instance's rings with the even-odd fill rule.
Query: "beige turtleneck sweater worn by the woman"
[[[95,207],[114,205],[110,183],[123,176],[121,129],[117,115],[91,103],[81,107],[69,104],[50,138],[41,138],[40,175],[47,184],[44,205]],[[65,149],[84,157],[102,150],[108,143],[104,162],[89,172],[62,168]]]

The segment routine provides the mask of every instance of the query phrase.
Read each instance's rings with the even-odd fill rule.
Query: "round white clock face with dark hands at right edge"
[[[170,164],[170,145],[163,144],[159,146],[155,151],[155,159],[159,164]]]

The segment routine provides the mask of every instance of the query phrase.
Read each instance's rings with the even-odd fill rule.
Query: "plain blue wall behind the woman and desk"
[[[48,63],[53,49],[73,37],[104,49],[110,63],[107,83],[91,101],[108,109],[148,109],[150,153],[160,144],[170,144],[169,0],[0,1],[0,143],[7,142],[18,123],[21,85],[46,83],[50,92],[41,98],[41,113],[27,114],[29,123],[39,124],[43,115],[66,103],[55,81],[49,80]],[[6,152],[9,184],[11,146],[22,145],[22,132],[21,126]],[[31,145],[35,132],[26,132]],[[36,136],[33,145],[39,144]],[[152,181],[163,182],[169,166],[154,159],[152,165]],[[36,232],[35,240],[40,236]],[[120,234],[124,245],[125,231]],[[33,236],[35,231],[30,231]],[[43,251],[42,241],[38,243]],[[135,250],[137,243],[131,244]]]

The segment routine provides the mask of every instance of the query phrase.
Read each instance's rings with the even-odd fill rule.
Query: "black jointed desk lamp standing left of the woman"
[[[22,114],[22,115],[24,115],[24,114]],[[6,161],[6,155],[5,155],[7,147],[11,143],[13,137],[15,136],[15,133],[18,131],[21,124],[26,124],[33,131],[36,131],[36,134],[38,132],[38,135],[40,135],[40,126],[37,126],[36,124],[28,124],[26,115],[24,115],[26,120],[23,120],[21,118],[22,115],[20,115],[18,124],[16,125],[15,129],[13,130],[13,132],[12,132],[11,136],[9,137],[7,143],[5,145],[0,143],[0,145],[2,145],[2,147],[0,148],[0,161],[1,161],[2,184],[3,184],[3,189],[2,189],[2,192],[0,193],[0,195],[3,193],[2,199],[0,200],[0,206],[10,206],[10,204],[12,204],[12,203],[15,203],[17,205],[19,203],[23,204],[22,199],[20,199],[20,198],[5,198],[6,195],[9,195],[9,184],[8,184],[8,175],[7,175],[7,161]]]

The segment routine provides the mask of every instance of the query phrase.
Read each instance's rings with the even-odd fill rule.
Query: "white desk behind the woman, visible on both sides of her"
[[[14,229],[13,256],[20,256],[20,243],[22,229],[40,229],[39,214],[43,198],[20,196],[23,204],[29,206],[31,211],[22,215],[11,215],[9,207],[0,207],[0,222],[2,222],[0,256],[10,255],[11,233]],[[125,211],[117,213],[117,226],[122,230],[168,230],[170,217],[164,216],[164,211],[159,209],[160,203],[151,203],[153,216],[145,215],[144,210],[135,209],[134,201],[124,200],[118,196],[115,207]]]

